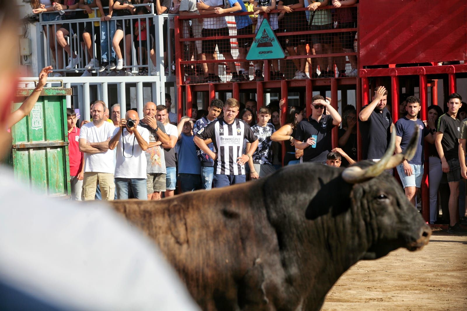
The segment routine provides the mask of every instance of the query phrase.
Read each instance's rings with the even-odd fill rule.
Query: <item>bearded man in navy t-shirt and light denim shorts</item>
[[[420,108],[420,99],[415,96],[409,96],[406,99],[405,105],[407,115],[396,122],[396,153],[402,153],[409,145],[410,139],[415,131],[414,123],[418,126],[417,130],[421,130],[415,156],[410,161],[404,160],[397,166],[397,173],[399,173],[399,177],[401,178],[405,196],[414,206],[415,198],[422,184],[423,163],[425,161],[423,147],[425,146],[425,141],[431,144],[434,143],[434,134],[436,134],[433,120],[430,121],[430,129],[428,130],[423,121],[417,118]]]

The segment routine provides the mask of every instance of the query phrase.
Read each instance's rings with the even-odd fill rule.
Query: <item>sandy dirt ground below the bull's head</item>
[[[421,251],[358,262],[322,310],[467,310],[467,235],[434,231]]]

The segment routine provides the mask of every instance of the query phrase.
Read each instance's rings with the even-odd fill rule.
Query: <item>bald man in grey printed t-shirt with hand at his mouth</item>
[[[165,157],[162,144],[170,143],[169,135],[165,133],[164,124],[156,119],[156,104],[149,101],[144,105],[144,119],[140,126],[149,130],[149,147],[146,150],[146,185],[148,200],[160,200],[166,181]]]

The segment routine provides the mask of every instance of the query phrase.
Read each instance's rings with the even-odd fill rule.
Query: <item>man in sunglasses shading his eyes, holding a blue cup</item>
[[[326,99],[321,95],[313,96],[311,116],[297,126],[295,148],[303,150],[303,162],[325,163],[327,154],[331,152],[331,130],[340,124],[341,118],[331,106],[331,99]],[[329,114],[324,114],[324,108]]]

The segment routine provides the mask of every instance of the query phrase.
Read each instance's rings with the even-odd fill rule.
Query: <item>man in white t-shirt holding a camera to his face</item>
[[[149,131],[138,123],[138,113],[129,110],[125,119],[120,120],[119,127],[115,128],[113,137],[109,141],[109,149],[113,150],[117,147],[114,176],[119,200],[128,198],[130,187],[134,198],[148,199],[144,151],[149,146]]]

